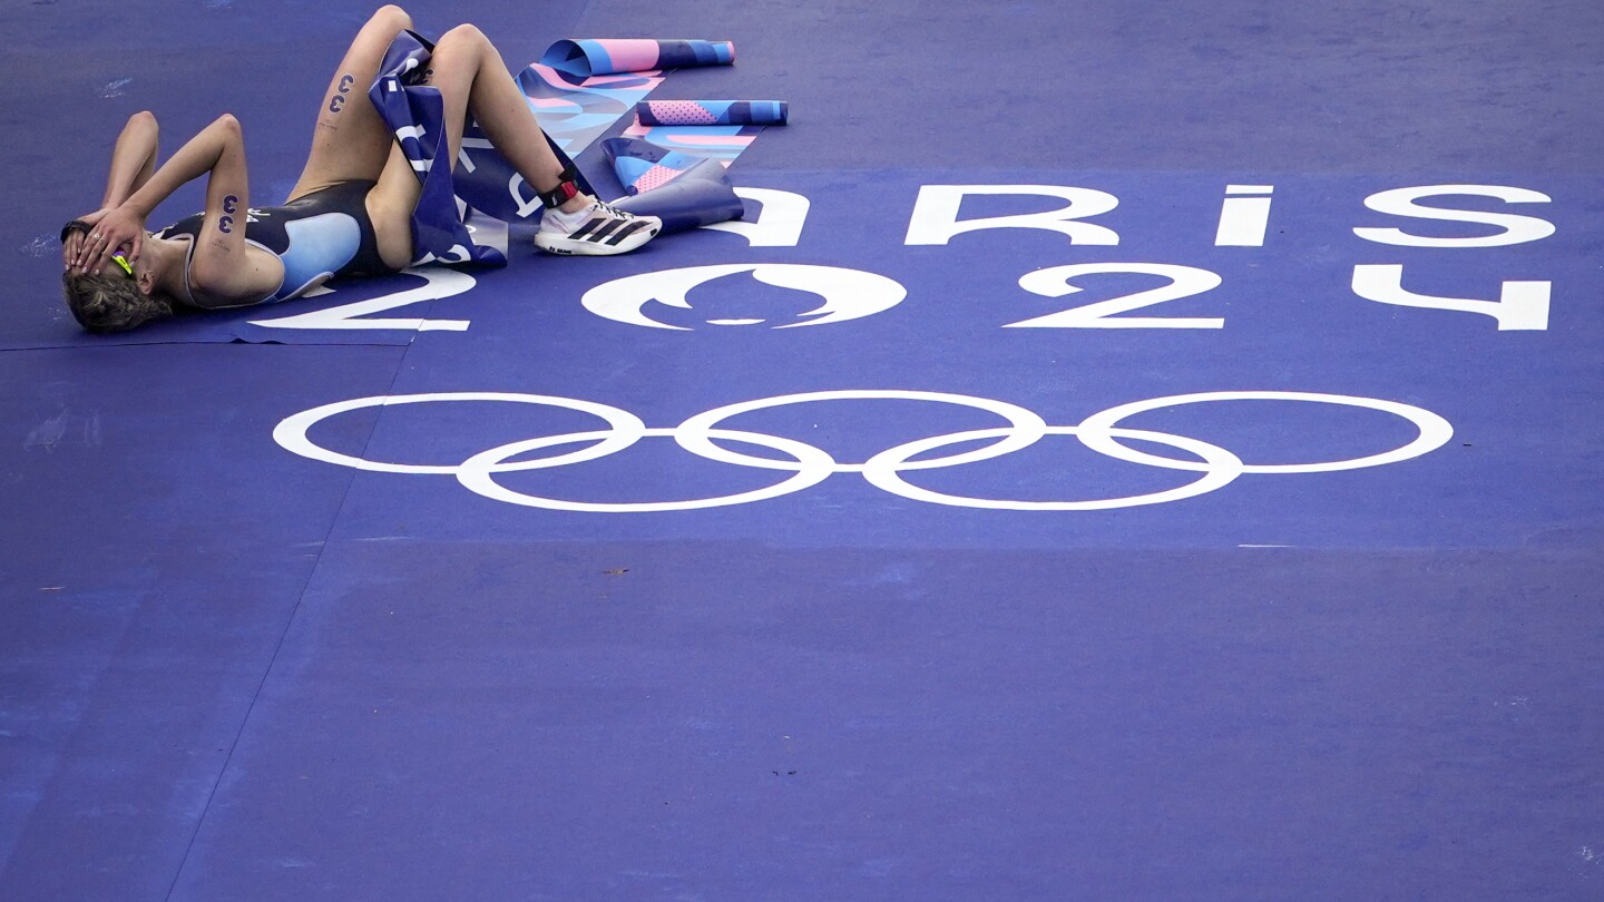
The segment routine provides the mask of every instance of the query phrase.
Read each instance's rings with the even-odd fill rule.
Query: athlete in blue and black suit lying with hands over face
[[[282,207],[250,207],[239,122],[223,116],[156,165],[157,125],[138,112],[117,138],[101,209],[63,230],[67,307],[93,332],[133,329],[175,307],[226,308],[297,297],[332,276],[406,268],[415,257],[419,178],[367,101],[385,50],[412,19],[383,6],[329,83],[311,156]],[[500,55],[473,26],[446,32],[423,82],[444,101],[449,157],[467,116],[533,185],[547,212],[534,244],[553,254],[622,254],[662,228],[585,194],[545,141]],[[356,88],[353,91],[353,87]],[[350,101],[350,103],[348,103]],[[205,212],[159,233],[144,220],[207,175]]]

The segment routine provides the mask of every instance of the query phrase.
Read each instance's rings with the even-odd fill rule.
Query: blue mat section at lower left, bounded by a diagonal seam
[[[399,353],[0,355],[0,897],[172,884],[350,485],[286,472],[260,404],[383,392]]]

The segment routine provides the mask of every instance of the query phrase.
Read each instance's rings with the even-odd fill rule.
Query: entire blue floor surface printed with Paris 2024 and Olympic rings
[[[0,10],[0,899],[1604,896],[1598,8],[420,3],[735,40],[764,231],[83,335],[369,11],[149,8]]]

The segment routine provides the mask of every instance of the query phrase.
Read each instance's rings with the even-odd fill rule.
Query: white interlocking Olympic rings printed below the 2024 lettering
[[[842,400],[898,400],[898,401],[934,401],[943,404],[956,404],[998,414],[1004,421],[1007,421],[1009,425],[991,427],[991,429],[974,429],[966,432],[954,432],[948,435],[937,435],[930,438],[908,441],[895,448],[881,451],[861,464],[839,462],[828,451],[808,445],[805,441],[797,441],[778,435],[720,427],[720,424],[723,424],[725,421],[744,412],[780,408],[788,404],[842,401]],[[1131,416],[1145,411],[1155,411],[1160,408],[1213,403],[1213,401],[1243,401],[1243,400],[1304,401],[1304,403],[1367,408],[1394,414],[1408,421],[1412,425],[1415,425],[1420,435],[1392,451],[1368,454],[1363,457],[1352,457],[1347,461],[1323,461],[1310,464],[1245,464],[1240,457],[1237,457],[1237,454],[1217,445],[1211,445],[1197,438],[1171,435],[1165,432],[1142,430],[1142,429],[1124,429],[1116,425]],[[427,401],[510,401],[520,404],[563,408],[597,416],[602,421],[605,421],[608,429],[569,432],[563,435],[547,435],[541,438],[512,441],[507,445],[500,445],[472,454],[460,464],[393,464],[383,461],[369,461],[366,457],[356,457],[330,451],[321,445],[316,445],[308,435],[313,425],[335,414],[356,411],[363,408],[417,404]],[[1086,448],[1099,454],[1104,454],[1107,457],[1115,457],[1118,461],[1142,464],[1148,467],[1161,467],[1169,470],[1190,470],[1203,475],[1187,485],[1171,490],[1136,494],[1128,498],[1107,498],[1107,499],[1089,499],[1089,501],[1014,501],[1014,499],[969,498],[969,496],[946,494],[929,488],[916,486],[906,481],[901,475],[909,470],[945,469],[945,467],[956,467],[961,464],[990,461],[1028,448],[1030,445],[1035,445],[1036,441],[1039,441],[1047,435],[1073,435]],[[518,504],[525,507],[541,507],[547,510],[576,510],[576,512],[603,512],[603,514],[701,510],[709,507],[725,507],[731,504],[749,504],[754,501],[767,501],[772,498],[780,498],[784,494],[802,491],[808,486],[824,481],[832,473],[861,473],[869,485],[889,491],[892,494],[898,494],[901,498],[908,498],[913,501],[945,504],[953,507],[975,507],[975,509],[991,509],[991,510],[1112,510],[1118,507],[1137,507],[1145,504],[1163,504],[1169,501],[1195,498],[1198,494],[1206,494],[1209,491],[1222,488],[1243,473],[1278,473],[1278,475],[1323,473],[1335,470],[1354,470],[1362,467],[1379,467],[1383,464],[1395,464],[1399,461],[1408,461],[1412,457],[1420,457],[1423,454],[1428,454],[1445,445],[1452,437],[1453,437],[1453,427],[1448,424],[1448,421],[1442,419],[1440,416],[1428,409],[1416,408],[1413,404],[1404,404],[1399,401],[1384,401],[1378,398],[1357,398],[1349,395],[1325,395],[1312,392],[1200,392],[1192,395],[1171,395],[1166,398],[1152,398],[1147,401],[1132,401],[1128,404],[1108,408],[1105,411],[1099,411],[1083,419],[1079,425],[1047,425],[1041,416],[1017,404],[1009,404],[1006,401],[993,401],[988,398],[977,398],[970,395],[953,395],[946,392],[916,392],[916,390],[805,392],[797,395],[780,395],[775,398],[760,398],[755,401],[741,401],[736,404],[727,404],[722,408],[715,408],[712,411],[696,414],[672,429],[658,429],[658,427],[648,429],[646,424],[635,414],[597,401],[582,401],[576,398],[561,398],[553,395],[523,395],[510,392],[444,392],[430,395],[395,395],[395,396],[353,398],[350,401],[337,401],[332,404],[324,404],[286,417],[273,430],[274,441],[277,441],[282,448],[295,454],[300,454],[303,457],[310,457],[313,461],[324,461],[342,467],[353,467],[358,470],[385,472],[385,473],[454,475],[457,477],[457,481],[462,483],[465,488],[492,501],[502,501],[507,504]],[[565,501],[557,498],[542,498],[513,491],[505,485],[502,485],[500,481],[497,481],[496,478],[497,473],[553,469],[553,467],[579,464],[584,461],[595,461],[598,457],[616,454],[618,451],[622,451],[635,445],[642,438],[674,438],[687,451],[699,457],[706,457],[709,461],[717,461],[722,464],[735,464],[747,469],[784,470],[791,472],[791,475],[772,486],[752,491],[743,491],[717,498],[701,498],[701,499],[685,499],[685,501],[648,501],[648,502],[587,502],[587,501]],[[991,441],[990,445],[982,445],[980,448],[970,451],[950,454],[945,457],[921,457],[922,454],[940,448],[948,448],[953,445],[964,445],[972,441],[985,441],[985,440],[994,440],[994,441]],[[1158,454],[1148,454],[1145,451],[1137,451],[1124,445],[1121,440],[1168,445],[1169,448],[1176,448],[1177,451],[1190,454],[1197,459],[1184,461],[1174,457],[1163,457]],[[773,457],[741,454],[731,451],[723,445],[719,445],[720,441],[757,445],[760,448],[778,451],[789,459],[773,459]],[[547,448],[560,448],[565,445],[582,445],[582,448],[563,454],[553,454],[550,457],[515,461],[516,457],[521,457],[534,451],[542,451]],[[921,459],[916,461],[914,457]]]

